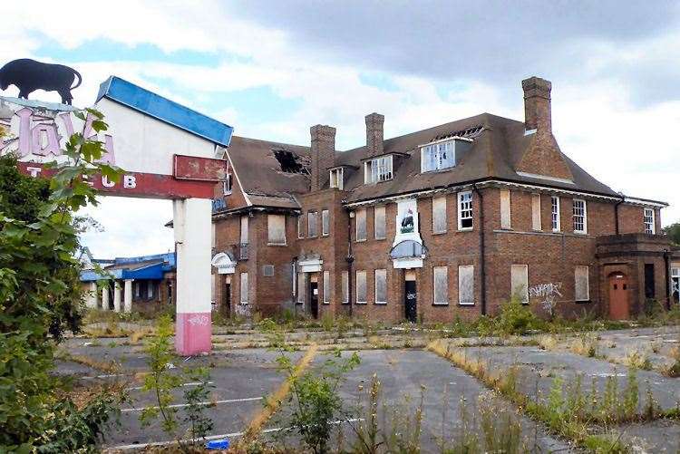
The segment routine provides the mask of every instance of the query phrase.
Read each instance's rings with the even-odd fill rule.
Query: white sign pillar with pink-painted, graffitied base
[[[206,198],[184,198],[173,200],[172,208],[177,249],[175,350],[180,354],[209,352],[212,204]]]

